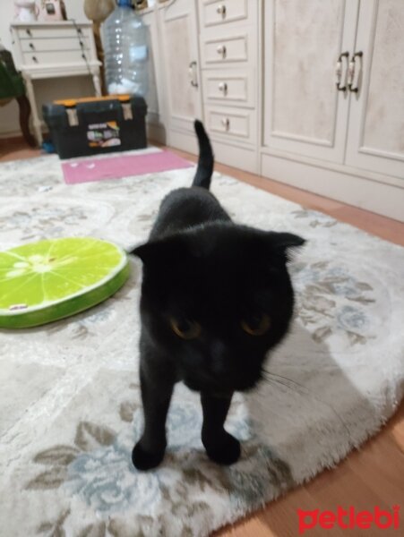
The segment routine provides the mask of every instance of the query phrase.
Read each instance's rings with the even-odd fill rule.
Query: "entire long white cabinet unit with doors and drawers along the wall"
[[[404,221],[403,0],[168,0],[166,142]]]

